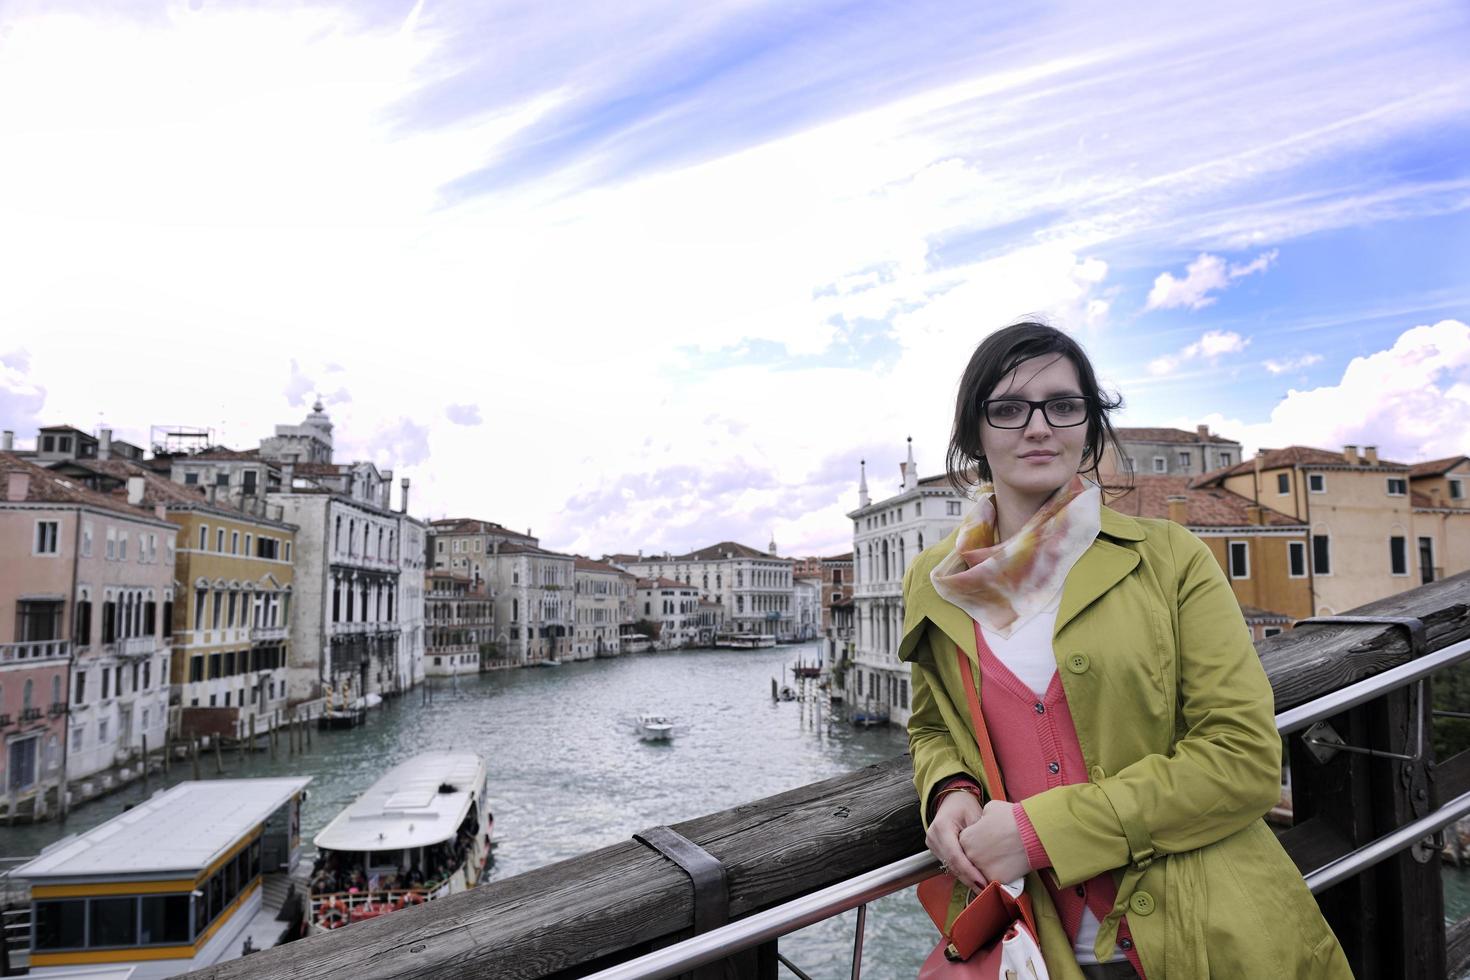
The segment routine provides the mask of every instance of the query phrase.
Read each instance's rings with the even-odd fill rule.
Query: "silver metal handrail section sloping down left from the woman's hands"
[[[701,967],[732,952],[779,939],[813,923],[820,923],[873,899],[900,892],[939,873],[939,861],[923,851],[908,858],[873,868],[819,892],[791,899],[784,905],[747,915],[729,926],[711,929],[684,942],[656,949],[647,956],[620,962],[587,980],[662,980]]]

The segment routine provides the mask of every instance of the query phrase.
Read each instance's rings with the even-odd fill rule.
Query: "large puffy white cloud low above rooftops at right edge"
[[[1335,385],[1289,389],[1266,422],[1220,413],[1188,422],[1260,447],[1376,445],[1379,455],[1413,463],[1470,450],[1470,326],[1441,320],[1404,331],[1394,345],[1354,357]]]

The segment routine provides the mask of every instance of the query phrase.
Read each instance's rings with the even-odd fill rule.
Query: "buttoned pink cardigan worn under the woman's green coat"
[[[1067,708],[1067,695],[1061,689],[1061,676],[1053,674],[1051,685],[1045,696],[1038,701],[1035,692],[1022,683],[1016,674],[1005,667],[1000,658],[991,652],[989,644],[975,624],[975,642],[980,654],[980,683],[985,695],[980,698],[980,711],[985,713],[985,727],[991,733],[991,746],[995,749],[995,760],[1000,763],[1005,780],[1005,792],[1011,802],[1017,804],[1016,826],[1020,839],[1026,845],[1026,858],[1033,870],[1050,868],[1051,858],[1036,836],[1026,810],[1020,801],[1028,796],[1070,783],[1088,782],[1088,767],[1082,760],[1082,745],[1078,742],[1078,730],[1072,721],[1072,711]],[[1082,926],[1083,905],[1102,921],[1113,911],[1117,899],[1117,884],[1111,873],[1104,871],[1085,884],[1061,889],[1057,887],[1055,877],[1042,874],[1051,901],[1061,915],[1061,926],[1067,932],[1067,940],[1076,945],[1078,929]],[[1127,918],[1119,923],[1117,945],[1133,964],[1138,976],[1144,976],[1144,965],[1139,962],[1138,949],[1133,946],[1132,933],[1127,929]]]

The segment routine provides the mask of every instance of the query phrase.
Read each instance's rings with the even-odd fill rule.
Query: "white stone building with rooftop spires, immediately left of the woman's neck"
[[[901,489],[873,501],[867,467],[860,464],[858,507],[853,520],[853,660],[844,679],[848,711],[886,717],[907,724],[910,714],[908,664],[898,660],[903,636],[903,583],[908,563],[958,526],[969,498],[945,476],[919,479],[913,441],[908,458],[898,464]]]

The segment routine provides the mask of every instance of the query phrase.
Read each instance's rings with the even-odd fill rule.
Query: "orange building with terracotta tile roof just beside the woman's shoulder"
[[[1252,639],[1313,614],[1304,522],[1222,486],[1191,486],[1188,476],[1135,476],[1108,505],[1166,517],[1201,538],[1225,569]]]

